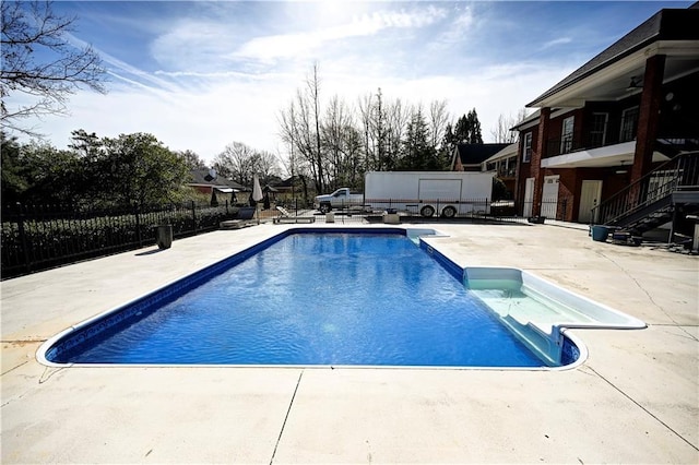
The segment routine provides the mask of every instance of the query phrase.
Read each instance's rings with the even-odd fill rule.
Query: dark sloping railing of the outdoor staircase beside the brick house
[[[665,162],[592,208],[592,220],[614,225],[674,191],[699,189],[699,151]]]

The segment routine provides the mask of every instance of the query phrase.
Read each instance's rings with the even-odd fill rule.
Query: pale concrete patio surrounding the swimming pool
[[[410,226],[410,225],[407,225]],[[51,368],[66,327],[240,251],[263,224],[2,282],[2,463],[699,463],[699,258],[554,225],[419,225],[648,323],[578,368]]]

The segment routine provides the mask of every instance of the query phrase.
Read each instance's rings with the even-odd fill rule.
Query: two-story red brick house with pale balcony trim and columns
[[[697,190],[698,25],[699,3],[661,10],[528,105],[513,128],[520,214],[644,230],[676,216],[682,195],[656,220],[621,219],[672,176]],[[694,211],[699,194],[682,199]]]

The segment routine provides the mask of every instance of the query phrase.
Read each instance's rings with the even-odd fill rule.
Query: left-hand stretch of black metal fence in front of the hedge
[[[218,228],[238,208],[190,202],[151,208],[10,205],[2,208],[1,277],[7,279],[68,263],[155,245],[158,225],[174,238]]]

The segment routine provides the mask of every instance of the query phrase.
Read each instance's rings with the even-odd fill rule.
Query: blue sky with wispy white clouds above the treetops
[[[59,1],[109,70],[39,132],[151,132],[211,160],[234,141],[284,155],[280,110],[318,62],[321,99],[376,93],[476,108],[488,142],[526,103],[662,8],[686,1]]]

